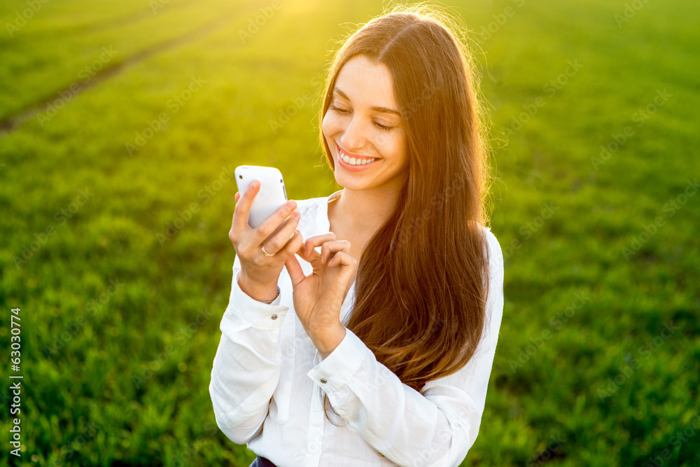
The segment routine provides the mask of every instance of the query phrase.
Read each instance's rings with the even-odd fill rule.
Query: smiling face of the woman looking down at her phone
[[[340,186],[400,189],[406,167],[405,132],[393,95],[393,77],[385,64],[366,55],[344,64],[323,117],[323,136]],[[370,162],[353,165],[357,161]]]

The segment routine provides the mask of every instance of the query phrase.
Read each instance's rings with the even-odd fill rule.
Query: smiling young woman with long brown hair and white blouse
[[[503,256],[477,80],[449,25],[403,6],[337,53],[321,142],[342,190],[255,229],[259,183],[236,195],[209,391],[254,466],[457,466],[477,437]]]

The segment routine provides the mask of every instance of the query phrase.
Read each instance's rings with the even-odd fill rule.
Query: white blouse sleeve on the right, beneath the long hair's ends
[[[307,375],[349,429],[400,466],[458,466],[474,444],[503,317],[503,253],[490,230],[486,326],[477,351],[457,372],[421,391],[403,384],[351,330]]]

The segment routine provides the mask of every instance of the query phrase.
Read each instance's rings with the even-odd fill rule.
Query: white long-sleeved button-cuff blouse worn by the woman
[[[297,201],[304,239],[330,230],[329,198]],[[477,353],[461,370],[428,382],[420,392],[377,362],[349,329],[322,359],[294,312],[286,267],[279,296],[267,305],[241,291],[236,256],[209,384],[221,431],[278,467],[458,466],[479,433],[503,316],[503,253],[484,229],[490,293]],[[311,264],[297,260],[310,274]],[[348,322],[354,292],[353,283],[341,323]],[[328,416],[341,426],[325,419],[323,393],[342,418],[330,408]]]

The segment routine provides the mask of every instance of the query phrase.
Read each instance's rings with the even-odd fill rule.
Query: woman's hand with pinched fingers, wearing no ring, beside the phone
[[[316,246],[321,246],[321,253],[314,250]],[[294,287],[295,312],[316,347],[345,333],[340,323],[340,308],[357,265],[349,251],[350,242],[337,241],[335,233],[328,232],[312,235],[296,252],[314,267],[311,274],[304,275],[294,256],[284,263]],[[319,350],[323,353],[323,349]]]

